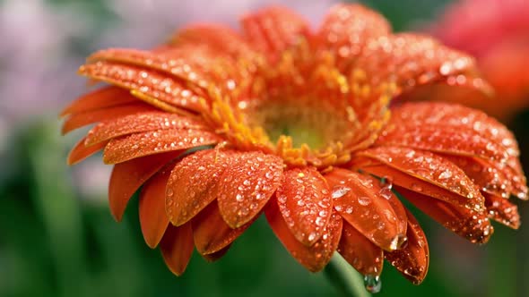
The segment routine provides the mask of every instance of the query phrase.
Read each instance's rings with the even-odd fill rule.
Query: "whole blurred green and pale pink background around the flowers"
[[[98,157],[65,165],[82,132],[61,137],[56,115],[83,92],[74,73],[84,56],[101,47],[152,47],[188,21],[233,24],[238,14],[276,2],[0,1],[0,296],[340,295],[324,274],[299,266],[263,218],[223,259],[211,264],[195,254],[186,274],[173,276],[159,250],[143,242],[137,199],[120,224],[110,216],[110,167]],[[414,30],[449,1],[363,2],[395,30]],[[334,1],[280,3],[317,23]],[[511,123],[523,157],[528,119],[521,111]],[[529,221],[529,209],[519,206]],[[386,266],[378,296],[529,296],[527,225],[517,232],[496,225],[489,244],[474,246],[418,218],[429,235],[429,276],[414,286]]]

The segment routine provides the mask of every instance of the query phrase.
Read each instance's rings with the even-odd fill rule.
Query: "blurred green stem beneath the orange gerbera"
[[[363,276],[338,253],[334,253],[333,259],[327,264],[324,272],[331,283],[343,293],[343,296],[370,296],[364,286]]]

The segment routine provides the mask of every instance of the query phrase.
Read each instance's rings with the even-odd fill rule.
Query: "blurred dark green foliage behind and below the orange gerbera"
[[[91,32],[94,36],[117,21],[103,0],[49,2],[57,7],[82,5],[97,24]],[[433,17],[447,0],[362,2],[384,13],[395,30],[403,30]],[[74,40],[72,50],[90,52],[94,49],[90,40],[90,35]],[[525,153],[529,153],[528,122],[525,114],[513,125]],[[9,140],[4,154],[3,162],[12,166],[8,174],[0,174],[0,296],[340,295],[323,273],[310,274],[292,259],[263,218],[221,260],[206,263],[195,253],[186,274],[173,276],[160,252],[143,242],[137,198],[131,199],[123,222],[117,224],[105,199],[82,197],[75,190],[72,170],[65,165],[73,138],[62,138],[58,131],[55,119],[33,123]],[[529,168],[527,156],[522,155],[525,168]],[[447,233],[428,217],[414,213],[427,234]],[[521,208],[521,213],[529,217],[529,208]],[[412,285],[386,265],[377,296],[529,296],[520,282],[529,273],[524,250],[528,241],[527,226],[519,233],[497,227],[486,247],[473,247],[486,255],[473,262],[475,273],[484,275],[476,284],[468,284],[474,277],[457,275],[457,271],[450,276],[442,268],[457,248],[446,251],[430,241],[429,276],[424,283]]]

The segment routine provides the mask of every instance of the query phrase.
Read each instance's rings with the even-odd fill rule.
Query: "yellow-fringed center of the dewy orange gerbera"
[[[210,89],[212,113],[206,115],[239,149],[261,149],[289,166],[323,170],[372,144],[389,118],[394,84],[373,85],[358,69],[343,74],[333,55],[311,51],[307,43],[274,62],[257,57],[240,64],[251,67],[227,88]]]

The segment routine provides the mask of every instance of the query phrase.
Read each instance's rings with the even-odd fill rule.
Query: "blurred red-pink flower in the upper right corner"
[[[508,121],[529,106],[529,4],[523,0],[463,0],[448,6],[434,25],[434,34],[451,47],[478,59],[497,100],[459,98]]]

